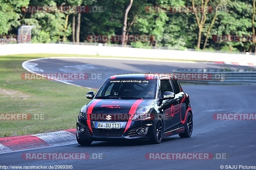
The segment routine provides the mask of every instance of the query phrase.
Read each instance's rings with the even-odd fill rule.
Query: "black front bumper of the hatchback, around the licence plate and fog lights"
[[[109,122],[111,123],[111,122]],[[84,119],[77,117],[76,135],[79,140],[92,141],[113,141],[113,140],[150,140],[154,129],[154,120],[137,120],[132,121],[130,127],[124,132],[127,122],[120,122],[121,129],[96,129],[95,121],[91,122],[90,130],[88,123]],[[83,128],[84,132],[80,133],[79,128]],[[137,129],[143,128],[145,133],[138,134]]]

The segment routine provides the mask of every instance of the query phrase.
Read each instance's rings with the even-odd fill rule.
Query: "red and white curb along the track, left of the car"
[[[76,129],[0,138],[0,154],[76,143]]]

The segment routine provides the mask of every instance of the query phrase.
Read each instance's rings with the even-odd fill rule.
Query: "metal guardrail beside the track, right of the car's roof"
[[[196,84],[256,84],[256,70],[175,69],[180,82]]]

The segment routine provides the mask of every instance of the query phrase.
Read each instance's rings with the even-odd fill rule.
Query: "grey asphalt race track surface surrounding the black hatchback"
[[[26,63],[37,73],[102,74],[99,80],[72,80],[70,83],[99,88],[111,75],[151,72],[172,73],[180,68],[224,68],[205,63],[153,62],[106,59],[45,59]],[[231,66],[246,68],[246,66]],[[256,113],[256,85],[182,85],[189,94],[193,111],[193,134],[163,139],[161,144],[145,142],[93,142],[90,146],[70,144],[57,147],[0,154],[1,165],[54,166],[73,165],[73,169],[226,169],[239,165],[256,166],[256,120],[214,120],[213,114]],[[81,92],[80,98],[85,98]],[[82,107],[82,106],[81,106]],[[75,118],[74,118],[75,119]],[[74,121],[74,127],[75,127]],[[89,153],[102,154],[103,159],[88,160],[26,160],[23,153]],[[149,160],[149,153],[210,153],[210,160]],[[216,157],[216,154],[223,155]],[[145,157],[146,156],[146,157]],[[92,157],[90,157],[92,158]],[[242,167],[240,167],[242,169]]]

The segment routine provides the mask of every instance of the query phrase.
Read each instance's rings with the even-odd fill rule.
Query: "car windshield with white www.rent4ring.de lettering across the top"
[[[156,80],[108,79],[95,96],[96,99],[155,99]]]

